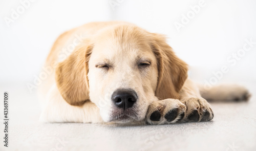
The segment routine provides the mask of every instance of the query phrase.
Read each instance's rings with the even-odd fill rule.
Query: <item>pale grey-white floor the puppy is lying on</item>
[[[0,150],[256,150],[256,89],[246,86],[250,101],[211,103],[210,122],[110,125],[39,123],[35,92],[24,83],[1,84],[1,92],[10,93],[10,141],[7,149],[1,139]],[[1,138],[3,129],[1,124]]]

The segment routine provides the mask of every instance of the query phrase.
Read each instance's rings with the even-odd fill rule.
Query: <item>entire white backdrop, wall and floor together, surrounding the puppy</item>
[[[20,1],[25,0],[0,0],[0,97],[4,91],[10,93],[9,150],[236,150],[233,146],[256,150],[256,45],[236,65],[227,62],[232,53],[243,48],[245,39],[256,41],[255,0],[205,0],[205,6],[180,32],[174,24],[181,23],[182,15],[199,0],[111,0],[120,2],[114,10],[109,0],[35,0],[8,26],[5,19],[11,17],[12,9],[22,6]],[[169,45],[192,67],[193,79],[209,82],[216,78],[214,73],[220,75],[221,68],[227,66],[228,73],[221,73],[218,82],[248,86],[251,100],[212,103],[215,118],[211,122],[157,127],[38,123],[39,99],[27,83],[34,83],[55,39],[74,27],[108,20],[130,21],[167,35]],[[1,105],[3,101],[0,123],[4,118]],[[0,150],[6,149],[3,130],[4,124],[0,124]],[[59,139],[68,143],[56,149]],[[131,145],[130,140],[136,143]]]

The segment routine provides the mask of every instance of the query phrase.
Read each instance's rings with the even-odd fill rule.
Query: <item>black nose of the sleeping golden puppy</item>
[[[133,106],[137,101],[137,95],[133,90],[116,90],[112,95],[112,101],[117,107],[125,110]]]

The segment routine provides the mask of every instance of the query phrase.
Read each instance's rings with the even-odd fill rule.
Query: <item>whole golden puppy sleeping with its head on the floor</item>
[[[121,21],[60,35],[40,85],[43,122],[170,124],[210,121],[210,104],[160,34]],[[243,87],[201,90],[208,99],[248,99]],[[216,89],[216,90],[215,90]],[[236,92],[236,93],[233,93]],[[214,94],[214,95],[212,95]]]

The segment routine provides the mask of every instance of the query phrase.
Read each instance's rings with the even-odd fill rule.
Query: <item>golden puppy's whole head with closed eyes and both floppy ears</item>
[[[106,122],[143,120],[152,102],[179,99],[186,78],[186,63],[164,36],[127,25],[84,40],[56,68],[62,97],[71,105],[94,102]]]

